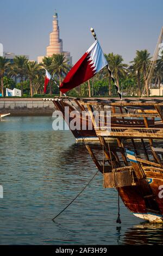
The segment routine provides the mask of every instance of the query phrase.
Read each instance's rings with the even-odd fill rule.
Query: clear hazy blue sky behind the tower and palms
[[[45,55],[55,9],[60,38],[73,63],[93,43],[90,27],[105,53],[119,53],[129,63],[136,50],[153,54],[163,26],[162,0],[0,0],[4,51],[35,60]]]

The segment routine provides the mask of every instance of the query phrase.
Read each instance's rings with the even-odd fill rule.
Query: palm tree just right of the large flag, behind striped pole
[[[115,76],[117,86],[120,87],[120,79],[127,75],[127,64],[122,63],[123,58],[121,55],[111,53],[109,66],[112,74]]]

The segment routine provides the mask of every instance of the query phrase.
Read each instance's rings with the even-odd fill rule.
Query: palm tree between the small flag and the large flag
[[[59,77],[59,84],[61,85],[61,79],[63,76],[67,74],[70,70],[70,66],[67,64],[64,53],[57,53],[53,55],[53,75],[57,75]],[[60,92],[60,96],[62,93]]]

